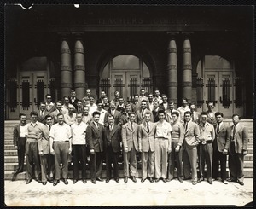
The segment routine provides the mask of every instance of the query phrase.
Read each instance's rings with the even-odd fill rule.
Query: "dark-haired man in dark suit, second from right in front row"
[[[228,125],[223,122],[223,113],[215,113],[217,125],[214,125],[215,138],[212,142],[213,156],[212,156],[212,177],[218,179],[218,167],[220,164],[220,177],[224,184],[226,181],[226,164],[227,154],[230,149],[230,129]]]

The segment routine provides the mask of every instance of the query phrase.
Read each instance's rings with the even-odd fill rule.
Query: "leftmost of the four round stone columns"
[[[61,41],[61,97],[69,96],[72,88],[71,52],[67,38]]]

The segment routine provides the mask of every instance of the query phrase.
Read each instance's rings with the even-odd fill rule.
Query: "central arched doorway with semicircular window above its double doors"
[[[111,58],[101,74],[100,90],[105,90],[109,99],[118,90],[125,101],[139,90],[151,92],[152,78],[148,66],[135,55],[117,55]]]

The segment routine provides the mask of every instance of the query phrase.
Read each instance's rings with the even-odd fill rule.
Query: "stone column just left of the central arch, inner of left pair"
[[[74,46],[74,90],[77,98],[85,96],[85,87],[84,46],[81,37],[77,36]]]

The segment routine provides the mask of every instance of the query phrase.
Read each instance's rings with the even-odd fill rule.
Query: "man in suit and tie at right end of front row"
[[[248,131],[241,125],[240,119],[238,114],[233,114],[233,125],[230,126],[229,181],[244,185],[243,161],[247,154]]]

